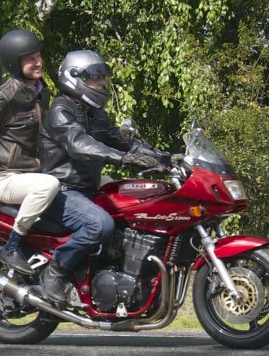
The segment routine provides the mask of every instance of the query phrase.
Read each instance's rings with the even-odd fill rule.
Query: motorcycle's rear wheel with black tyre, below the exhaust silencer
[[[6,272],[0,263],[0,273]],[[58,322],[34,306],[21,305],[0,291],[0,342],[36,344],[49,336]]]

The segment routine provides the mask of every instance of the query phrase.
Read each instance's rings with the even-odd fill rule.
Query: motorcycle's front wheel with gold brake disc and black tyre
[[[224,260],[242,298],[234,302],[207,264],[197,271],[193,305],[205,331],[229,348],[269,344],[269,250],[259,249]]]

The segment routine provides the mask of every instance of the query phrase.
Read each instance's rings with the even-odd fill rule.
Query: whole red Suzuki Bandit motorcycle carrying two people
[[[138,134],[130,119],[122,132]],[[171,324],[184,304],[191,275],[193,306],[204,330],[228,348],[261,348],[269,339],[269,241],[225,235],[222,221],[246,209],[244,187],[227,160],[193,125],[185,154],[108,182],[94,202],[116,224],[111,243],[69,276],[66,306],[47,300],[39,273],[70,231],[45,214],[24,239],[35,275],[0,263],[0,342],[34,344],[60,322],[105,331],[145,331]],[[146,149],[147,150],[147,149]],[[164,179],[144,179],[158,170]],[[0,244],[18,207],[0,207]]]

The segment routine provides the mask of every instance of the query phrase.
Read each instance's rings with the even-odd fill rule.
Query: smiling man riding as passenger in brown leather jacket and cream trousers
[[[20,205],[0,258],[21,273],[34,270],[21,252],[21,240],[50,205],[58,180],[38,173],[38,133],[50,93],[41,79],[41,42],[28,30],[12,30],[0,40],[0,62],[12,75],[0,87],[0,202]]]

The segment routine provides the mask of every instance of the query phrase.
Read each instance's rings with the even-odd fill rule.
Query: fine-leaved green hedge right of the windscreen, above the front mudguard
[[[234,107],[213,117],[208,130],[246,189],[248,209],[240,220],[238,216],[233,220],[241,233],[267,235],[269,231],[268,118],[266,109]]]

